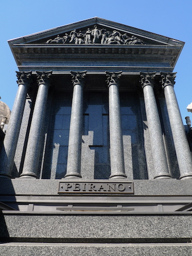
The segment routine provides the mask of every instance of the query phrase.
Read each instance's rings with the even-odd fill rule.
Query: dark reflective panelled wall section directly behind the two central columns
[[[66,173],[71,111],[70,93],[52,99],[51,130],[43,170],[44,179],[61,179]],[[147,179],[143,125],[139,98],[135,93],[120,93],[124,159],[128,179]],[[82,131],[81,175],[83,179],[108,179],[110,146],[107,92],[85,92]],[[49,169],[49,171],[47,170]],[[133,171],[134,170],[134,171]]]

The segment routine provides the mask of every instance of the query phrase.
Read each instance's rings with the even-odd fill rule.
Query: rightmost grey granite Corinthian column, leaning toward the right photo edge
[[[174,93],[175,77],[176,73],[161,73],[161,83],[165,93],[170,127],[180,168],[180,179],[189,179],[192,178],[192,160],[176,94]]]

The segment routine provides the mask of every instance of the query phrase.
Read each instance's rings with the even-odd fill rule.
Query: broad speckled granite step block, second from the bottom
[[[191,214],[56,214],[3,211],[2,238],[184,239],[192,237]]]

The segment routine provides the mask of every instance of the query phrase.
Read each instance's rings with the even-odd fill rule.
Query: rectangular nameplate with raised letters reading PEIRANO
[[[60,181],[59,194],[133,194],[132,181]]]

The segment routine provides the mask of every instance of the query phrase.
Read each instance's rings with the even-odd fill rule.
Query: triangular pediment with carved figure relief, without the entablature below
[[[141,44],[182,46],[183,42],[102,18],[91,18],[9,41],[9,44]]]

